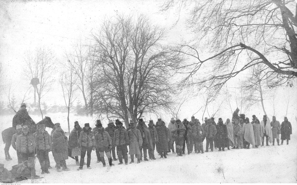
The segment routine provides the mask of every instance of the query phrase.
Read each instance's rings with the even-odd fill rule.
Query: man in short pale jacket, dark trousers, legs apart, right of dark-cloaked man
[[[82,170],[84,166],[84,157],[87,153],[87,168],[91,169],[91,153],[95,150],[96,141],[92,128],[89,123],[84,124],[83,131],[80,132],[80,137],[78,139],[78,146],[80,148],[80,167],[77,170]]]

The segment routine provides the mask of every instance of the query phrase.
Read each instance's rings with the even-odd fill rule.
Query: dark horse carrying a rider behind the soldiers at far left
[[[35,124],[33,122],[30,125],[28,125],[30,134],[33,134],[36,131],[38,124],[44,124],[45,127],[54,128],[54,124],[53,124],[52,120],[50,119],[50,117],[45,116],[45,118],[43,120],[39,121],[37,124]],[[16,133],[16,130],[15,130],[15,128],[12,128],[12,127],[6,128],[5,130],[2,131],[2,140],[5,144],[4,153],[5,153],[6,161],[12,160],[9,155],[9,148],[11,146],[12,135],[15,133]]]

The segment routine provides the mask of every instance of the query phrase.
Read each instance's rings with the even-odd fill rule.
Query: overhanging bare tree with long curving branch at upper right
[[[215,91],[220,91],[229,79],[257,64],[265,66],[260,71],[263,82],[267,83],[271,77],[275,79],[273,83],[267,83],[269,87],[297,77],[295,1],[206,0],[196,3],[167,0],[162,9],[166,11],[172,7],[179,7],[179,12],[189,11],[188,25],[197,35],[195,43],[181,44],[175,50],[195,59],[183,66],[183,73],[187,74],[183,83],[191,83],[189,79],[204,66],[212,67],[214,73],[192,84]],[[211,44],[202,46],[205,41]],[[203,57],[201,53],[217,54]]]

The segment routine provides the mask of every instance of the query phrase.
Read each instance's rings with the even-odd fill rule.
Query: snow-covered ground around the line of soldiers
[[[54,123],[58,120],[66,120],[67,115],[47,115]],[[93,127],[95,118],[71,116],[71,123],[75,120],[83,123],[89,122]],[[41,120],[38,116],[32,119]],[[0,131],[11,127],[12,116],[0,116]],[[280,120],[281,121],[281,120]],[[36,179],[35,183],[297,183],[297,134],[295,132],[295,121],[291,121],[293,135],[289,145],[263,146],[259,149],[231,149],[225,152],[208,152],[204,154],[192,153],[183,157],[169,153],[168,158],[160,159],[155,151],[156,160],[133,163],[128,165],[117,165],[110,167],[107,157],[107,166],[97,163],[96,153],[92,151],[91,167],[77,171],[75,160],[69,158],[66,163],[70,171],[57,172],[54,168],[55,162],[49,153],[50,174],[41,175],[40,165],[37,159],[36,173],[43,179]],[[61,122],[60,122],[61,123]],[[106,123],[103,125],[107,125]],[[61,123],[64,131],[68,130],[67,122]],[[73,124],[71,125],[71,130]],[[51,129],[48,129],[50,132]],[[205,150],[205,142],[204,150]],[[272,145],[272,144],[270,144]],[[5,164],[8,170],[17,163],[15,150],[11,147],[12,161],[6,161],[4,156],[4,145],[0,143],[0,162]],[[187,149],[186,149],[187,150]],[[128,155],[129,156],[129,155]],[[86,161],[85,157],[85,161]],[[128,159],[130,162],[130,158]],[[223,176],[223,173],[225,176]],[[31,183],[31,180],[21,183]]]

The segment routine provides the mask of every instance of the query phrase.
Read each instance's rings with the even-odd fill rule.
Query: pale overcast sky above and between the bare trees
[[[104,17],[117,14],[148,15],[153,24],[168,29],[166,40],[168,44],[190,40],[191,34],[186,27],[187,12],[182,11],[178,24],[177,11],[160,11],[162,1],[41,1],[41,2],[9,2],[1,1],[0,5],[0,62],[4,67],[5,84],[12,82],[13,93],[21,99],[29,87],[30,81],[24,78],[24,53],[38,47],[52,49],[58,59],[57,64],[65,60],[64,53],[71,50],[79,39],[90,38],[90,32],[98,31]],[[205,44],[207,47],[207,43]],[[206,57],[206,56],[205,56]],[[243,59],[244,60],[244,59]],[[53,74],[56,78],[54,90],[44,100],[48,105],[62,104],[62,92],[59,86],[58,71]],[[243,78],[242,74],[239,78]],[[234,87],[238,79],[229,82]],[[7,87],[7,86],[6,86]],[[1,93],[0,99],[7,101],[7,88]],[[279,100],[285,97],[288,90],[279,91]],[[295,92],[294,90],[292,92]],[[32,93],[31,93],[32,96]],[[282,96],[282,98],[281,98]],[[296,95],[291,98],[293,109],[296,112]],[[28,100],[32,103],[33,99]],[[201,107],[201,99],[193,98],[187,102],[185,117],[190,117]],[[280,101],[282,102],[282,101]],[[267,100],[267,103],[269,101]],[[197,108],[198,107],[198,108]],[[269,106],[268,106],[269,107]],[[257,110],[259,106],[255,106]],[[227,109],[227,108],[226,108]],[[224,111],[223,111],[224,112]],[[261,114],[261,113],[259,113]]]

